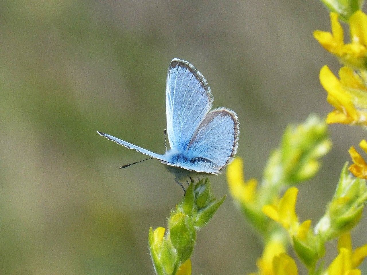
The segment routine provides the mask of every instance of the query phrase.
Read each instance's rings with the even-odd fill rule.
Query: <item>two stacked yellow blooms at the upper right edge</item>
[[[327,51],[344,63],[340,80],[327,66],[320,71],[320,82],[327,91],[327,101],[335,107],[328,123],[367,125],[367,15],[358,10],[348,20],[351,42],[344,43],[338,14],[330,13],[331,33],[316,30],[314,37]],[[355,71],[356,72],[355,72]]]

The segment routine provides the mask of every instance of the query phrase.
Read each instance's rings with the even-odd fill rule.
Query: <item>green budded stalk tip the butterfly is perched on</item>
[[[190,183],[185,197],[171,210],[167,232],[163,227],[150,228],[149,251],[157,275],[191,275],[196,230],[210,221],[225,197],[213,197],[208,178],[195,186]]]

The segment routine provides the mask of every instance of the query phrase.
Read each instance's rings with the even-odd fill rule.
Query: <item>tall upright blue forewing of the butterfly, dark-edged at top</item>
[[[211,104],[205,78],[189,62],[173,59],[166,84],[167,134],[171,148],[187,148]]]

